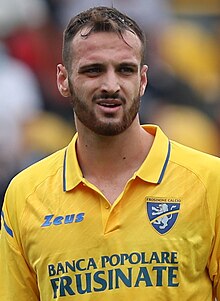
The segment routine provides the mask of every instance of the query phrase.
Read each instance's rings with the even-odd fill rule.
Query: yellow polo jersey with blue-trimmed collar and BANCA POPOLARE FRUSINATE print
[[[83,178],[77,134],[12,180],[1,301],[220,300],[220,159],[144,129],[153,145],[113,205]]]

